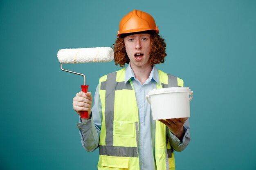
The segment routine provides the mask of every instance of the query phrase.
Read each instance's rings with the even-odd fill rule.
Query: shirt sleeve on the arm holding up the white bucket
[[[189,119],[187,119],[183,125],[184,128],[184,136],[182,138],[182,141],[178,139],[173,133],[170,131],[169,140],[171,142],[171,146],[173,149],[177,152],[181,152],[184,150],[190,142],[190,126],[189,126]]]

